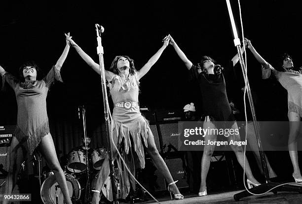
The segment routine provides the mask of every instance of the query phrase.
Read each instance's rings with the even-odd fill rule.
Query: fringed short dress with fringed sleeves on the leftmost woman
[[[33,154],[43,136],[49,134],[46,97],[54,79],[62,81],[60,70],[53,66],[48,74],[37,81],[20,82],[6,72],[5,81],[13,88],[18,105],[17,126],[14,136],[19,142],[27,142],[29,154]]]

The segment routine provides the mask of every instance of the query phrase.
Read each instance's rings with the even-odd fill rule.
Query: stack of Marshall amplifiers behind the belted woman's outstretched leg
[[[178,151],[178,122],[181,121],[183,112],[181,110],[148,111],[142,109],[141,112],[150,123],[157,150],[163,157],[173,179],[179,180],[177,186],[179,188],[189,187],[184,170],[184,152]],[[147,154],[146,164],[150,164],[150,162],[148,162],[149,160],[151,162],[151,159]],[[152,182],[152,184],[149,183],[149,185],[151,185],[150,188],[155,191],[166,190],[167,182],[164,180],[161,173],[156,170],[156,168],[146,169],[154,169],[154,177],[152,180],[155,182]]]

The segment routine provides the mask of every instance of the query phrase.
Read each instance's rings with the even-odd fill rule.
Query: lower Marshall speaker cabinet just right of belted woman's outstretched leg
[[[183,168],[184,162],[185,161],[182,161],[181,158],[166,159],[166,164],[171,172],[172,178],[174,179],[174,181],[178,180],[177,182],[178,188],[189,187],[189,184],[187,182],[187,177],[185,175],[185,170]]]

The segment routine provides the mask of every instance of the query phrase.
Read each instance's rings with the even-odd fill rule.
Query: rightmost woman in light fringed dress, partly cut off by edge
[[[279,83],[286,89],[288,94],[288,119],[290,121],[290,133],[288,138],[288,149],[293,164],[293,177],[296,182],[302,182],[302,175],[298,163],[298,135],[302,117],[302,75],[295,71],[294,64],[288,54],[282,56],[280,62],[281,70],[276,70],[255,50],[250,40],[245,38],[248,48],[256,60],[262,66],[262,77],[267,79],[272,72]]]

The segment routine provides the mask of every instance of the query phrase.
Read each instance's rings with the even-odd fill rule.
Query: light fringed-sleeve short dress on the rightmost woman
[[[270,64],[262,66],[262,77],[267,79],[270,76],[270,70],[287,90],[288,113],[295,112],[302,117],[302,75],[298,71],[277,71]]]

